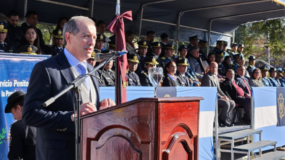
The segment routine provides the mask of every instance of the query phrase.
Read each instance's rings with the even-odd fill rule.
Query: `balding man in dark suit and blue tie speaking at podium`
[[[76,28],[79,28],[78,32],[75,32]],[[37,127],[36,154],[41,160],[75,159],[73,91],[67,91],[48,107],[42,104],[67,88],[78,75],[93,69],[86,59],[90,58],[95,45],[94,22],[88,17],[72,17],[64,25],[63,35],[64,51],[34,67],[22,112],[23,123]],[[99,82],[93,76],[82,83],[81,100],[80,108],[77,108],[80,114],[115,105],[111,99],[100,102]]]

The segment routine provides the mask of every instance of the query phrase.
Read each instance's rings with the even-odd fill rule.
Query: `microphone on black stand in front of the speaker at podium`
[[[109,57],[108,59],[106,59],[105,61],[103,61],[100,65],[98,65],[96,68],[94,68],[92,71],[90,71],[88,74],[83,74],[83,77],[77,77],[73,82],[69,83],[68,87],[65,88],[63,91],[61,91],[60,93],[56,94],[54,97],[50,98],[49,100],[47,100],[45,103],[43,103],[44,107],[49,106],[51,103],[53,103],[56,99],[60,98],[64,93],[66,93],[67,91],[74,89],[74,93],[76,93],[76,109],[77,109],[77,113],[75,113],[75,108],[74,108],[74,115],[76,115],[76,118],[74,120],[75,122],[75,154],[76,154],[76,160],[80,160],[80,101],[81,101],[81,83],[84,82],[84,80],[90,76],[92,73],[94,73],[95,71],[99,70],[101,67],[103,67],[105,65],[105,63],[107,63],[108,61],[112,60],[113,58],[117,57],[117,56],[121,56],[123,54],[125,54],[127,51],[121,51],[118,52],[114,55],[112,55],[111,57]]]

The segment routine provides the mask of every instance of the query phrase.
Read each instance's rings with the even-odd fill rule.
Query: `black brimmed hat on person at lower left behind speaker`
[[[25,95],[26,94],[23,91],[15,91],[14,93],[12,93],[7,99],[5,113],[11,113],[12,107],[21,100],[24,100]]]

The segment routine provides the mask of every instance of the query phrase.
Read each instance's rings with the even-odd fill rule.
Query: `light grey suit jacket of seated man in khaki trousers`
[[[215,81],[215,79],[216,81]],[[220,89],[220,83],[219,83],[219,78],[215,75],[213,76],[211,74],[211,72],[206,73],[201,81],[201,86],[204,87],[217,87],[217,91],[218,91],[218,99],[221,99],[222,97],[225,96],[225,94],[223,93],[223,91]]]

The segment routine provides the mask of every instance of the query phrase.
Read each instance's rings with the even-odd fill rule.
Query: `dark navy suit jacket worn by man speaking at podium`
[[[93,67],[88,65],[88,71]],[[95,74],[94,74],[95,75]],[[97,75],[98,76],[98,75]],[[48,107],[42,104],[68,87],[75,76],[62,51],[60,54],[38,62],[31,74],[25,95],[22,120],[25,125],[37,127],[37,159],[75,159],[75,127],[73,91],[68,91]],[[96,90],[97,110],[100,107],[99,82],[91,77]]]

